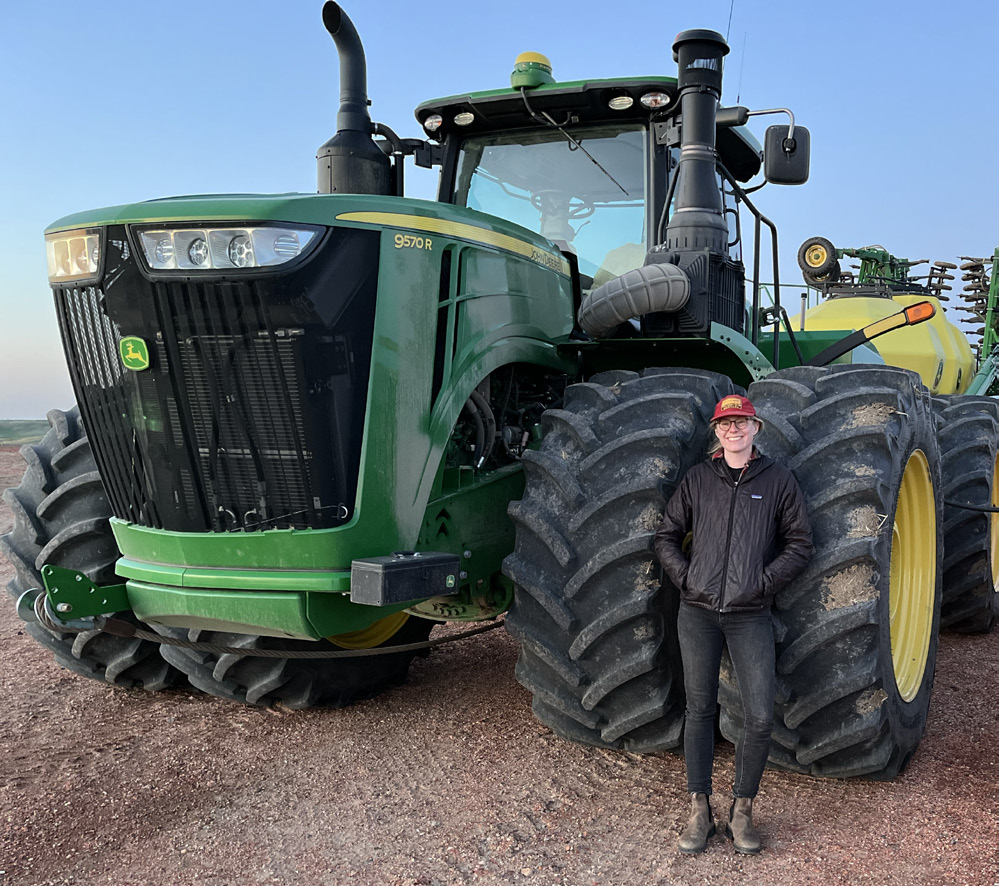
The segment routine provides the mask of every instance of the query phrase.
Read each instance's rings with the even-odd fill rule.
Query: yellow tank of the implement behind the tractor
[[[939,299],[921,294],[830,298],[805,312],[805,331],[861,329],[920,301],[937,309],[932,320],[888,332],[868,347],[876,348],[885,363],[918,372],[933,394],[963,393],[975,374],[974,357],[968,339],[947,319]],[[792,321],[795,330],[801,328],[799,321]]]

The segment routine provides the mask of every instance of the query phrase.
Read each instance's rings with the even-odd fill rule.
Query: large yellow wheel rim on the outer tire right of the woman
[[[919,693],[933,633],[937,580],[937,517],[930,466],[909,456],[895,506],[891,539],[889,620],[895,684],[905,701]]]

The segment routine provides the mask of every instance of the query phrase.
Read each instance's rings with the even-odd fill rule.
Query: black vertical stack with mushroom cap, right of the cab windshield
[[[673,217],[666,226],[666,252],[707,249],[727,255],[728,224],[715,170],[715,121],[721,99],[722,59],[728,44],[717,31],[677,34],[673,59],[679,67],[680,165]]]

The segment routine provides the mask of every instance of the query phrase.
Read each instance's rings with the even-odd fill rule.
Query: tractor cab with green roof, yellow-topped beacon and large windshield
[[[416,109],[436,142],[423,162],[441,167],[440,202],[515,222],[574,256],[585,292],[640,267],[657,242],[679,159],[677,93],[673,77],[557,83],[544,56],[524,53],[510,89]],[[759,171],[744,127],[720,127],[717,143],[739,180]]]

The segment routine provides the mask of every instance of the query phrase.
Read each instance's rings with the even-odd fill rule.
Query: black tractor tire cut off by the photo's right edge
[[[999,506],[999,402],[958,394],[935,397],[943,460],[943,497]],[[944,585],[940,625],[953,631],[992,630],[999,616],[999,514],[944,505]]]

